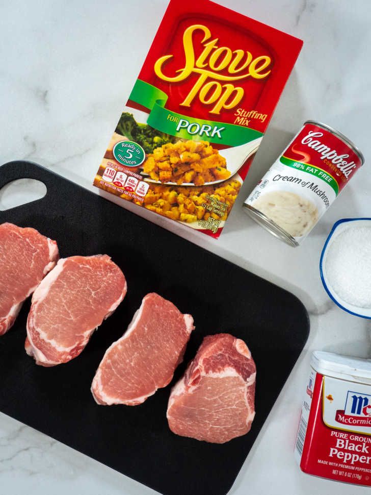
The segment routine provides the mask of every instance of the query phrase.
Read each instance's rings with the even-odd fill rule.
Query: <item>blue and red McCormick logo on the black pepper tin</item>
[[[336,411],[336,421],[343,425],[371,428],[371,395],[348,390],[345,408]]]

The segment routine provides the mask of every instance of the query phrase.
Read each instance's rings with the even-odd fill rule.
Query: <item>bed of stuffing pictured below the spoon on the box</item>
[[[148,210],[190,224],[199,220],[226,220],[241,188],[230,180],[215,186],[181,187],[151,184],[143,206]]]

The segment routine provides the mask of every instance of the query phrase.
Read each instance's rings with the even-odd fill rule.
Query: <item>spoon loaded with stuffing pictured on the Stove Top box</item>
[[[169,144],[169,146],[174,147],[175,163],[172,163],[173,157],[163,153],[164,146],[167,146],[164,145],[153,150],[153,153],[148,155],[140,173],[146,182],[152,184],[211,186],[233,177],[245,161],[256,153],[261,140],[262,136],[240,146],[220,151],[214,149],[212,154],[207,156],[202,156],[200,146],[203,146],[203,143],[187,141],[186,143],[190,143],[190,151],[179,154],[180,163],[179,161],[176,162],[176,146],[178,143]],[[179,143],[181,142],[179,141]],[[195,144],[197,145],[196,149],[194,149]],[[209,153],[211,146],[211,143],[206,146],[207,153]]]

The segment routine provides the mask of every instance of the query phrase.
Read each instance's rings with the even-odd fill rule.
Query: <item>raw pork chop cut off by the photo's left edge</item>
[[[0,225],[0,335],[58,260],[57,242],[35,229]]]

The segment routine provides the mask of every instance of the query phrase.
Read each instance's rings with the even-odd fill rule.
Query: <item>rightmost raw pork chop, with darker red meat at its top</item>
[[[255,376],[255,363],[243,340],[226,333],[205,337],[171,391],[170,429],[213,443],[245,435],[255,415]]]

